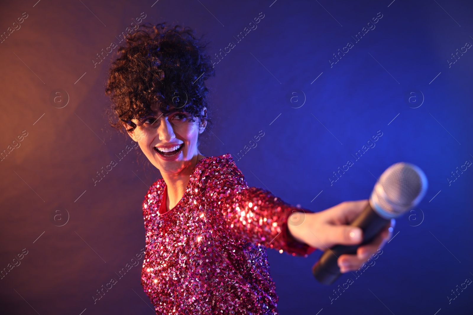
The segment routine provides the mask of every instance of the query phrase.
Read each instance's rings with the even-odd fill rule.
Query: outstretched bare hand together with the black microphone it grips
[[[325,250],[312,272],[321,283],[331,284],[382,248],[391,238],[389,228],[394,228],[395,218],[419,204],[426,190],[422,170],[396,163],[383,172],[369,202],[343,202],[321,212],[305,213],[303,224],[291,226],[289,222],[288,228],[299,241]]]

